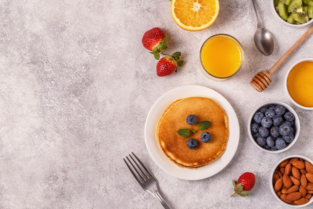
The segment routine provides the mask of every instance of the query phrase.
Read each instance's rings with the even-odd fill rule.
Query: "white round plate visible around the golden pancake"
[[[195,96],[211,98],[224,109],[228,116],[229,136],[226,149],[222,155],[207,165],[192,169],[179,167],[165,156],[157,143],[156,128],[163,112],[173,101]],[[239,134],[238,118],[229,102],[216,91],[196,85],[177,87],[163,94],[151,107],[144,126],[145,144],[153,161],[170,175],[185,180],[204,179],[215,175],[226,167],[237,150]]]

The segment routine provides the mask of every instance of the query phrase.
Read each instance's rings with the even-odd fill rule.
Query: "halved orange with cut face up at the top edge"
[[[170,13],[175,23],[187,31],[211,26],[219,13],[218,0],[171,0]]]

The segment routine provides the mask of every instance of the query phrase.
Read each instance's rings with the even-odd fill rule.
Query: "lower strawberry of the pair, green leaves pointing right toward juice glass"
[[[181,67],[183,61],[179,60],[180,52],[175,52],[170,56],[163,57],[156,64],[156,75],[168,76],[173,72],[177,72],[177,64]]]

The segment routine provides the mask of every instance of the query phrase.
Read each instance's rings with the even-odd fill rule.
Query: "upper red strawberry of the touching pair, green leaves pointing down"
[[[159,52],[163,54],[163,50],[167,48],[167,37],[165,37],[164,32],[159,28],[152,28],[145,32],[141,42],[145,49],[152,51],[151,53],[157,60],[160,58]]]

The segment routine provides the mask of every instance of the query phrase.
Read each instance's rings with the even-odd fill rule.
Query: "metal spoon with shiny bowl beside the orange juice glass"
[[[254,34],[254,44],[258,51],[265,56],[269,56],[274,50],[274,41],[271,34],[262,27],[254,0],[252,0],[252,4],[257,18],[257,29]]]

